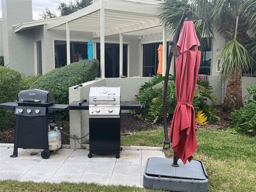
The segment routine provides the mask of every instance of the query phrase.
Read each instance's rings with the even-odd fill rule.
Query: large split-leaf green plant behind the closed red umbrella
[[[174,113],[176,107],[176,91],[174,76],[169,75],[168,87],[167,87],[167,100],[166,100],[166,112],[167,115]],[[164,77],[156,75],[150,78],[149,82],[146,82],[139,89],[138,95],[135,96],[134,100],[139,100],[141,104],[141,110],[131,110],[131,114],[139,114],[139,118],[146,120],[149,124],[154,124],[158,119],[163,117],[163,90],[164,90]],[[157,84],[161,86],[156,86]],[[203,111],[207,116],[207,121],[215,122],[218,120],[216,111],[212,109],[215,105],[217,97],[211,91],[212,87],[209,82],[202,82],[198,79],[198,85],[205,88],[204,91],[196,90],[193,105],[196,111]],[[207,100],[212,102],[211,105],[207,104]]]

